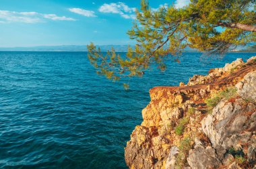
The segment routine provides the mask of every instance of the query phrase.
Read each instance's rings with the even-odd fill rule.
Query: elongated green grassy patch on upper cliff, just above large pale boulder
[[[235,87],[232,87],[232,88],[225,89],[224,91],[220,91],[214,97],[206,99],[205,103],[207,104],[208,107],[213,108],[216,105],[218,105],[218,103],[220,103],[222,99],[230,99],[234,97],[234,95],[236,95],[236,90],[237,89]]]

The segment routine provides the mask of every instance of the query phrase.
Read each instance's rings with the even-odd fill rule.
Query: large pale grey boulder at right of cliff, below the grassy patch
[[[223,158],[226,150],[237,148],[240,144],[253,142],[250,132],[241,133],[251,127],[251,121],[255,121],[249,112],[249,107],[242,107],[243,100],[236,99],[234,103],[227,100],[220,101],[214,108],[212,115],[207,115],[202,121],[202,129],[209,137],[212,146],[217,150],[219,158]],[[252,105],[255,109],[256,106]],[[253,126],[255,128],[256,126]]]

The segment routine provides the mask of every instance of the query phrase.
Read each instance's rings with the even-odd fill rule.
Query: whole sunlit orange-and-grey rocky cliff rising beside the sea
[[[150,97],[125,148],[129,168],[256,168],[256,56]]]

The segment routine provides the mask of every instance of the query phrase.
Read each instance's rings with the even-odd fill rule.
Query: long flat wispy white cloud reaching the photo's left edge
[[[57,16],[55,14],[44,14],[35,11],[17,12],[17,11],[2,11],[0,10],[0,23],[22,22],[22,23],[38,23],[45,19],[75,21],[71,17]]]

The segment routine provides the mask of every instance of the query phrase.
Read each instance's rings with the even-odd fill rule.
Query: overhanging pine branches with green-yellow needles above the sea
[[[136,10],[136,20],[127,32],[137,45],[128,48],[121,57],[115,50],[106,55],[88,45],[88,58],[99,74],[110,80],[143,76],[145,70],[156,64],[166,69],[166,60],[179,62],[179,55],[189,46],[207,54],[222,54],[228,48],[256,41],[256,33],[246,28],[254,27],[255,0],[191,0],[187,7],[172,6],[153,10],[147,0]],[[237,27],[239,24],[243,27]],[[219,28],[222,28],[220,32]]]

